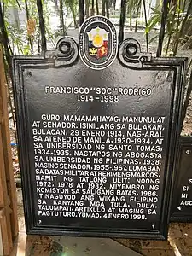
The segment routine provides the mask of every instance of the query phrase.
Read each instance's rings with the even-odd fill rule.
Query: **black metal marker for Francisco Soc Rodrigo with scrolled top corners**
[[[141,53],[137,41],[128,39],[119,47],[119,60],[115,60],[105,70],[98,71],[86,67],[79,60],[76,47],[77,44],[73,39],[63,38],[57,44],[55,53],[47,53],[45,59],[38,57],[15,57],[14,59],[15,105],[20,141],[20,166],[24,190],[26,231],[28,234],[42,235],[165,239],[169,223],[172,169],[175,163],[175,150],[180,132],[178,127],[180,127],[179,120],[183,101],[182,78],[185,61],[182,58],[151,58],[151,55]],[[78,102],[77,95],[73,93],[61,94],[50,93],[50,91],[45,93],[46,86],[52,88],[70,86],[70,88],[83,88],[83,90],[86,87],[89,90],[88,95],[93,96],[93,101]],[[119,101],[102,102],[102,93],[96,92],[97,89],[100,90],[101,88],[103,90],[114,88],[111,95],[119,96]],[[131,91],[131,88],[137,90],[143,88],[145,93],[141,96],[137,93],[126,95],[119,92],[124,89],[126,91],[130,89]],[[157,178],[160,189],[156,192],[157,207],[153,208],[156,213],[149,213],[151,210],[148,210],[148,204],[144,203],[141,205],[144,211],[144,219],[110,219],[102,218],[102,214],[100,218],[79,218],[78,213],[76,213],[75,218],[38,216],[32,124],[34,120],[40,120],[42,114],[53,113],[60,116],[63,114],[95,117],[116,116],[120,125],[123,125],[121,121],[123,117],[154,117],[154,119],[158,119],[158,117],[164,116],[165,122],[162,130],[164,140],[159,152],[161,167]],[[117,133],[117,128],[114,131]],[[134,128],[132,131],[134,131]],[[126,138],[127,135],[123,128],[122,132],[123,137]],[[117,146],[113,141],[114,135],[105,135],[104,139],[106,140],[107,137],[111,139],[113,147]],[[157,138],[151,137],[150,142],[154,144]],[[96,143],[90,144],[92,148],[96,147]],[[134,140],[131,141],[130,145],[133,148],[131,152],[136,153]],[[108,147],[107,144],[106,151],[109,150]],[[115,150],[118,151],[118,149],[113,149],[113,151]],[[149,151],[152,152],[153,149]],[[73,150],[69,152],[73,155]],[[126,153],[127,151],[124,150],[124,158]],[[104,157],[105,159],[106,157]],[[138,160],[139,165],[142,166],[142,157],[139,157]],[[90,166],[92,166],[92,163]],[[79,177],[75,176],[73,178],[74,183],[77,183]],[[58,179],[61,179],[61,177],[58,177]],[[105,184],[107,189],[109,183],[111,183],[110,178]],[[130,183],[136,183],[135,178],[131,178]],[[145,190],[148,192],[150,184],[145,185]],[[140,195],[141,189],[137,189],[136,193]],[[98,196],[95,200],[98,201]],[[130,201],[130,196],[125,196],[125,201],[130,204],[129,207],[134,208],[136,205],[135,202]],[[86,201],[85,203],[89,204],[90,202]],[[49,200],[47,204],[49,205]],[[110,201],[106,201],[105,207],[107,209],[109,209],[109,205]]]

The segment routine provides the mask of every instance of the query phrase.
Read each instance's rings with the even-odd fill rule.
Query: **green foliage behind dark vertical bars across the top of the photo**
[[[78,27],[77,24],[77,16],[78,16],[78,0],[42,0],[43,3],[43,11],[44,11],[44,23],[45,23],[45,30],[46,30],[46,38],[49,43],[52,43],[55,46],[55,41],[58,37],[63,36],[66,34],[68,26],[71,26],[72,23],[70,23],[68,26],[66,24],[62,24],[62,27],[58,27],[56,32],[52,32],[51,25],[50,25],[50,9],[49,9],[49,3],[52,1],[52,3],[55,5],[55,15],[57,17],[61,18],[61,13],[63,16],[63,12],[61,12],[61,6],[68,9],[68,13],[73,16],[73,23],[74,26]],[[171,1],[168,5],[168,15],[166,20],[166,31],[165,31],[165,39],[164,39],[164,55],[170,55],[170,52],[177,53],[177,44],[179,41],[179,44],[181,42],[181,38],[178,38],[177,35],[182,35],[181,29],[183,30],[184,27],[186,27],[186,24],[182,26],[183,21],[187,23],[186,21],[186,9],[189,5],[189,2],[187,0],[175,0]],[[86,2],[86,1],[85,1]],[[88,9],[90,7],[90,0],[88,0]],[[101,2],[102,3],[102,2]],[[109,1],[108,3],[111,4]],[[161,15],[162,12],[160,10],[160,6],[163,3],[163,0],[161,0],[160,6],[157,6],[156,8],[150,8],[151,9],[151,15],[148,18],[148,10],[146,10],[146,4],[151,4],[151,0],[145,1],[145,0],[127,0],[126,1],[126,17],[127,21],[130,25],[130,28],[132,29],[133,26],[133,20],[136,20],[135,23],[135,31],[137,31],[137,23],[140,22],[139,17],[143,16],[143,21],[145,21],[145,37],[146,37],[146,44],[148,49],[148,44],[151,44],[158,38],[158,31],[157,33],[148,40],[148,36],[150,32],[152,32],[154,29],[160,28],[160,22],[161,22]],[[109,4],[109,6],[110,6]],[[95,1],[96,5],[96,1]],[[14,24],[10,20],[10,8],[18,9],[18,11],[27,12],[26,14],[26,20],[27,24],[25,26],[16,26],[16,23]],[[102,6],[100,6],[100,9]],[[88,13],[90,11],[88,10]],[[107,13],[107,12],[106,12]],[[37,10],[37,1],[36,0],[3,0],[3,15],[5,20],[5,26],[6,30],[8,32],[9,36],[9,44],[14,52],[14,54],[19,55],[33,55],[37,54],[39,49],[39,40],[41,38],[40,32],[39,32],[39,20],[38,20],[38,10]],[[119,18],[119,14],[113,14],[111,15],[113,18]],[[148,20],[147,20],[148,19]],[[135,22],[135,21],[134,21]],[[183,36],[184,38],[184,36]],[[191,38],[191,34],[189,34],[189,38]]]

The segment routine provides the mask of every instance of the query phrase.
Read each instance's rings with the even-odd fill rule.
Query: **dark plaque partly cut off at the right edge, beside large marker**
[[[192,137],[180,137],[171,220],[192,222]]]

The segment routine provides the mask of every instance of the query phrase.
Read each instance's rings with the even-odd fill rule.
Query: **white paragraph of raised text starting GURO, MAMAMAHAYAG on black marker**
[[[55,114],[33,121],[38,216],[157,214],[164,121]]]

